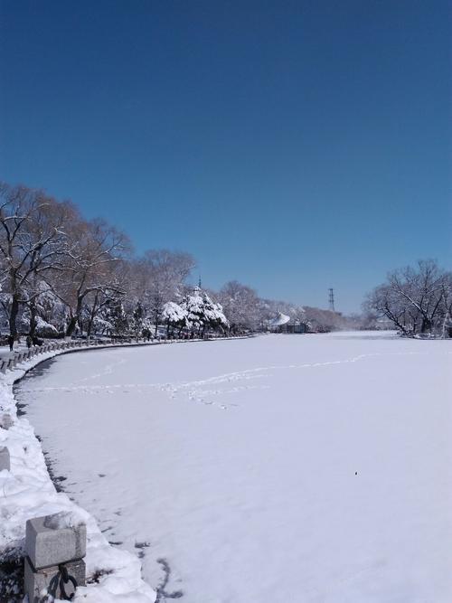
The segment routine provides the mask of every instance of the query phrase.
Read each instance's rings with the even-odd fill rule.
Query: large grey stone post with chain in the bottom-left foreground
[[[73,526],[69,513],[29,519],[25,533],[24,588],[29,603],[39,603],[42,592],[70,598],[85,586],[86,525]],[[61,589],[62,587],[62,589]]]

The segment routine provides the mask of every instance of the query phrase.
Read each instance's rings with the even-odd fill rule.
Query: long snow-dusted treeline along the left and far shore
[[[359,328],[359,317],[264,299],[231,281],[190,287],[189,253],[132,253],[127,235],[88,221],[70,202],[0,184],[0,320],[18,334],[243,333],[266,330],[279,312],[312,331]]]

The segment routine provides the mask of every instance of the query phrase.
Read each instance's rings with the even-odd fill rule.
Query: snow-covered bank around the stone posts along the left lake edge
[[[5,357],[5,350],[1,352]],[[65,513],[65,521],[69,523],[86,523],[88,533],[85,561],[90,583],[78,589],[74,603],[153,603],[155,591],[143,581],[140,561],[108,544],[92,515],[71,502],[65,493],[55,491],[33,427],[20,413],[16,415],[14,381],[55,353],[60,352],[43,352],[0,377],[0,447],[6,446],[11,457],[11,471],[0,471],[0,600],[5,603],[22,600],[19,583],[23,575],[26,521],[45,514]],[[97,579],[93,580],[95,575]]]

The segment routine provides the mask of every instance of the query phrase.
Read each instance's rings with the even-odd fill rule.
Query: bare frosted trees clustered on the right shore
[[[390,272],[363,308],[370,321],[385,318],[404,335],[452,337],[452,272],[421,259],[415,267]]]

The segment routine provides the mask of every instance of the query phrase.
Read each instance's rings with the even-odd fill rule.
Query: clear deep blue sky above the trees
[[[451,10],[437,0],[0,0],[0,177],[203,284],[357,310],[452,268]]]

